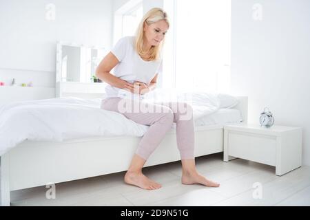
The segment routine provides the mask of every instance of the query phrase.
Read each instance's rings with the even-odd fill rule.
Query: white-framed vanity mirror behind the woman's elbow
[[[105,49],[101,47],[85,47],[83,45],[58,43],[56,55],[56,83],[94,82],[96,67],[105,55]]]

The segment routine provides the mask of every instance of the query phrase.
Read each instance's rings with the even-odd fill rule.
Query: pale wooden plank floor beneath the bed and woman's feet
[[[13,191],[12,206],[310,206],[309,166],[278,177],[273,166],[223,162],[223,153],[197,157],[196,166],[220,187],[181,184],[181,165],[174,162],[143,168],[163,185],[158,190],[129,186],[122,172],[56,184],[56,199],[46,199],[44,186]],[[261,199],[254,198],[256,183],[262,186]]]

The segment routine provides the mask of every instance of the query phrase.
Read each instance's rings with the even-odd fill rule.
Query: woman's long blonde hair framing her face
[[[161,41],[161,43],[158,44],[158,46],[152,46],[151,49],[147,52],[143,51],[144,24],[150,25],[161,20],[165,20],[169,28],[167,13],[164,12],[161,8],[152,8],[144,15],[143,19],[138,25],[138,29],[136,30],[136,52],[138,52],[140,56],[148,58],[149,61],[158,60],[165,38],[163,41]]]

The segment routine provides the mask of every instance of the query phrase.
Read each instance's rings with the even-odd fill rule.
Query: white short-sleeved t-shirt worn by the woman
[[[111,50],[119,63],[114,67],[114,76],[126,80],[128,83],[140,81],[149,85],[156,74],[163,72],[163,62],[144,61],[134,48],[134,36],[125,36],[118,40]],[[138,98],[144,99],[145,94],[133,94],[125,89],[119,89],[112,85],[105,87],[107,97]]]

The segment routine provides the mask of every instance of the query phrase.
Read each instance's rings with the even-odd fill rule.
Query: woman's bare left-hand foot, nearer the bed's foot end
[[[161,184],[156,183],[156,181],[152,181],[147,178],[143,173],[136,173],[127,171],[124,177],[124,181],[126,184],[138,186],[145,190],[156,190],[161,188]]]

